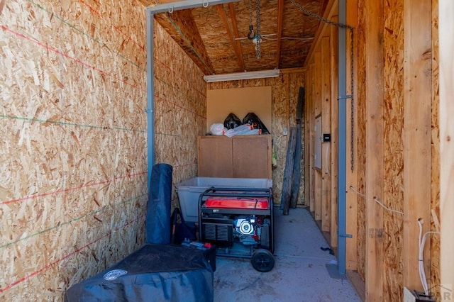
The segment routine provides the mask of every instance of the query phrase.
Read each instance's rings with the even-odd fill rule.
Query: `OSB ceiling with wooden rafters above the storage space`
[[[144,6],[172,1],[139,0]],[[328,0],[293,0],[323,16]],[[257,0],[252,0],[253,27]],[[260,0],[261,57],[248,40],[250,1],[157,13],[167,30],[204,74],[303,67],[319,21],[306,16],[292,0]]]

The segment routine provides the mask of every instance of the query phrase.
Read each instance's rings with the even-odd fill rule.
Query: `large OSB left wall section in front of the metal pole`
[[[144,241],[145,13],[1,4],[0,300],[60,301]]]

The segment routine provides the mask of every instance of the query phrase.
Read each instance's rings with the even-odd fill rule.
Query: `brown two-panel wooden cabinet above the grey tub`
[[[199,177],[271,179],[271,135],[199,136]]]

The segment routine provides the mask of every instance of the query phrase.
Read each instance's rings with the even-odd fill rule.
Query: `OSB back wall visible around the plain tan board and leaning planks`
[[[276,78],[248,79],[230,82],[214,82],[208,89],[226,89],[253,86],[272,86],[272,125],[267,125],[272,135],[272,152],[276,155],[276,165],[272,167],[273,196],[279,205],[282,195],[285,159],[287,156],[288,136],[283,135],[284,128],[295,125],[299,87],[304,86],[304,73],[283,73]],[[297,206],[304,205],[304,132],[301,138],[301,182]]]

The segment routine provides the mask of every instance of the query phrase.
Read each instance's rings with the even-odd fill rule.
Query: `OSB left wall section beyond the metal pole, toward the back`
[[[206,128],[203,73],[155,21],[155,162],[173,167],[175,184],[196,176],[197,135]],[[173,206],[177,192],[172,192]]]

